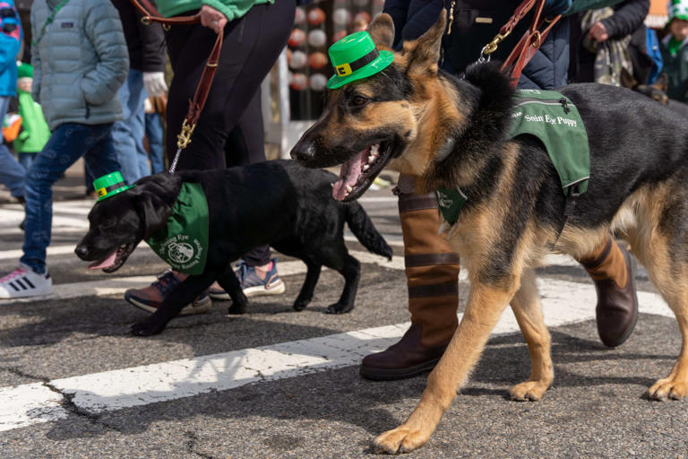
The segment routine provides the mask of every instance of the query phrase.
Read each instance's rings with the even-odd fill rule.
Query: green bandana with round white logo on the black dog
[[[200,184],[182,184],[167,226],[146,242],[176,271],[203,272],[208,256],[208,201]]]

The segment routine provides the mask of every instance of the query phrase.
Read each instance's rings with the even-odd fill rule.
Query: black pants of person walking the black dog
[[[211,91],[192,141],[179,157],[177,170],[222,169],[265,160],[260,86],[287,44],[295,6],[295,0],[257,4],[244,17],[225,26]],[[200,24],[175,25],[167,32],[174,71],[167,113],[170,162],[189,100],[193,99],[215,39],[215,33]],[[250,266],[267,264],[270,247],[257,247],[244,259]]]

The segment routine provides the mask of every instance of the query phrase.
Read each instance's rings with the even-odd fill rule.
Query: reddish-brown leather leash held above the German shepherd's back
[[[502,65],[502,70],[509,71],[512,76],[512,86],[516,86],[519,83],[523,67],[525,67],[530,59],[535,56],[535,53],[538,51],[538,48],[540,48],[540,45],[542,45],[542,42],[545,41],[549,31],[552,30],[555,23],[562,17],[561,14],[557,14],[553,19],[541,17],[545,1],[546,0],[524,0],[513,12],[509,21],[499,30],[495,39],[488,43],[480,53],[481,58],[494,53],[499,43],[512,33],[516,24],[518,24],[520,20],[529,13],[533,6],[535,6],[536,9],[534,11],[533,21],[530,23],[529,29],[526,30],[526,33],[523,34]],[[545,22],[547,22],[547,26],[545,29],[542,29]]]

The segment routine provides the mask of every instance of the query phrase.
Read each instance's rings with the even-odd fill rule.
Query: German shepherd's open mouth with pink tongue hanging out
[[[341,165],[340,179],[332,186],[332,197],[337,201],[350,201],[363,195],[375,177],[391,160],[392,143],[370,145]]]

